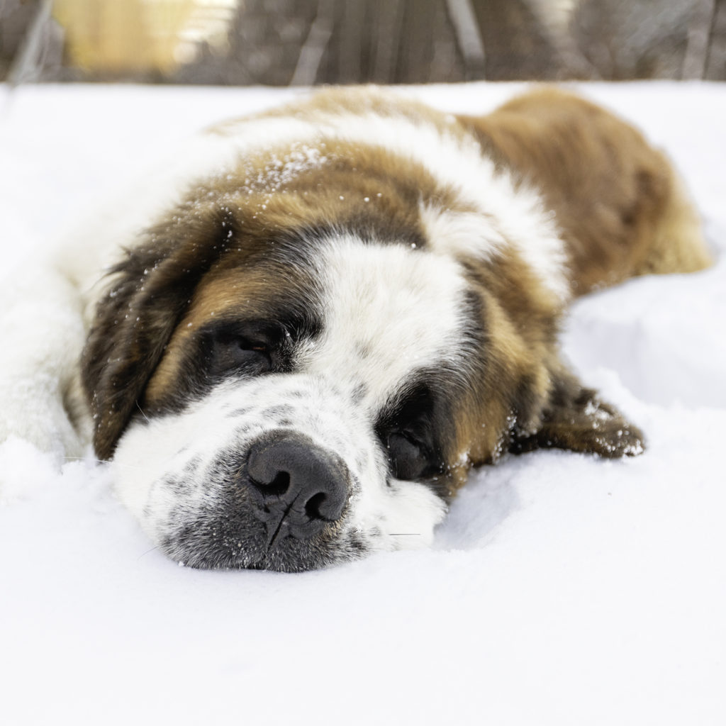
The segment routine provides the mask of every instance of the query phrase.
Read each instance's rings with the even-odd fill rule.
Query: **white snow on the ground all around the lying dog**
[[[476,113],[516,88],[407,92]],[[726,722],[726,86],[584,91],[668,150],[719,255],[571,313],[566,353],[647,452],[508,458],[432,550],[290,575],[180,568],[104,468],[7,441],[1,722]],[[298,92],[0,87],[0,275],[162,147]]]

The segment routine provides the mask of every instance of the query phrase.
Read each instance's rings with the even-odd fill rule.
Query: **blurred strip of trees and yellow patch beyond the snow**
[[[726,78],[726,0],[0,0],[0,80]]]

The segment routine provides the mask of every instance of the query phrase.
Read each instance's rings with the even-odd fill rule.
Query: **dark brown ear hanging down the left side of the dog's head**
[[[197,282],[238,240],[236,227],[229,208],[177,214],[111,269],[81,358],[100,458],[113,454]]]

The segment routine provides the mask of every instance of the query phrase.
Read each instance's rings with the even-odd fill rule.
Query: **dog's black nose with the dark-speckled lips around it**
[[[303,571],[362,557],[345,526],[351,474],[300,433],[266,433],[208,474],[209,495],[170,513],[160,546],[187,566]]]

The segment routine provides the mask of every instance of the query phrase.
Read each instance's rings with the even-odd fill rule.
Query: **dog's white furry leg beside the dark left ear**
[[[84,337],[81,296],[60,270],[35,269],[0,290],[0,441],[15,435],[59,457],[82,454]]]

